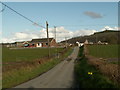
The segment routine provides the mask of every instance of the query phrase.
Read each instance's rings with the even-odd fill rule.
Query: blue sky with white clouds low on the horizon
[[[49,23],[49,36],[57,41],[94,32],[118,29],[117,2],[4,2],[30,20],[45,27]],[[46,30],[11,11],[4,5],[0,12],[1,42],[15,42],[45,38]]]

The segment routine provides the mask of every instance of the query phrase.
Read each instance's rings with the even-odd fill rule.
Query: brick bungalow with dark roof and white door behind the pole
[[[57,45],[54,38],[49,38],[50,47],[55,47]],[[41,38],[41,39],[32,39],[30,44],[34,45],[35,47],[47,47],[48,42],[47,38]]]

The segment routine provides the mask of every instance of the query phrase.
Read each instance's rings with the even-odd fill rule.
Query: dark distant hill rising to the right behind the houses
[[[74,44],[76,43],[76,41],[79,41],[83,43],[85,42],[86,39],[89,42],[93,42],[93,43],[101,41],[101,42],[107,42],[109,44],[120,44],[120,31],[105,30],[101,32],[96,32],[89,36],[74,37],[67,40],[67,42]],[[62,41],[61,43],[65,43],[65,42],[66,41]]]

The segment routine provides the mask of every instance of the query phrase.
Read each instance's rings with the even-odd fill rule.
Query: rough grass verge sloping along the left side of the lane
[[[43,64],[26,66],[20,68],[19,70],[13,69],[10,72],[3,73],[2,88],[11,88],[41,75],[42,73],[48,71],[60,63],[60,61],[63,58],[66,58],[71,52],[72,48],[69,48],[65,51],[64,54],[60,55],[59,58],[52,58]]]

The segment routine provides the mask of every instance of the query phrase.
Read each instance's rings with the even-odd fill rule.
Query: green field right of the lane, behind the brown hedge
[[[90,55],[102,58],[118,58],[120,45],[88,45]]]

